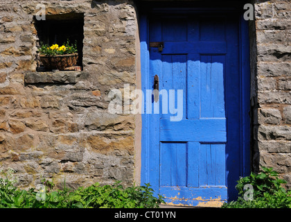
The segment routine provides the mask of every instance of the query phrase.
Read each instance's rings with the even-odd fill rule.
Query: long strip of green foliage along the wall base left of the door
[[[0,207],[1,208],[157,208],[165,203],[159,196],[153,196],[150,185],[123,188],[120,182],[114,185],[79,187],[71,190],[53,191],[54,184],[42,180],[38,189],[21,190],[14,186],[15,180],[0,178]]]

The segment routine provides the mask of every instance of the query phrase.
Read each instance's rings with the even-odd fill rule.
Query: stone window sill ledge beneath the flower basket
[[[87,78],[85,71],[35,71],[25,74],[26,84],[53,83],[53,84],[74,84]]]

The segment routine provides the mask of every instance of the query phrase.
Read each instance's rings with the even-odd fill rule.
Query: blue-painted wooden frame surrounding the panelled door
[[[161,13],[192,13],[201,10],[209,11],[207,8],[159,8]],[[231,12],[236,8],[216,8],[214,12]],[[157,9],[156,11],[157,12]],[[152,89],[149,83],[150,76],[150,51],[149,51],[149,23],[150,12],[141,12],[139,16],[139,37],[140,37],[140,60],[141,60],[141,89]],[[239,17],[239,56],[240,56],[240,176],[247,176],[251,171],[251,121],[250,121],[250,61],[249,61],[249,26],[243,19],[243,6],[241,6]],[[144,103],[144,108],[146,104]],[[144,112],[145,113],[145,112]],[[151,129],[151,114],[142,114],[141,128],[141,185],[150,181],[150,138],[155,137],[155,129]],[[152,189],[159,194],[159,184],[150,184]],[[233,200],[233,197],[228,198]]]

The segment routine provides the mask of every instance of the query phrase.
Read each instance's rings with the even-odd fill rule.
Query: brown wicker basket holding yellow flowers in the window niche
[[[78,53],[58,55],[58,56],[44,56],[40,55],[39,59],[46,69],[64,70],[66,67],[77,65]]]

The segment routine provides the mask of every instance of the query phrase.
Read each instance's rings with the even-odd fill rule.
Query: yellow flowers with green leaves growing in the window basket
[[[62,46],[59,46],[58,44],[48,46],[48,44],[41,43],[39,52],[41,55],[45,56],[57,56],[77,53],[78,52],[77,42],[75,42],[74,44],[70,44],[69,40],[67,40],[67,42],[64,42],[62,44]]]

